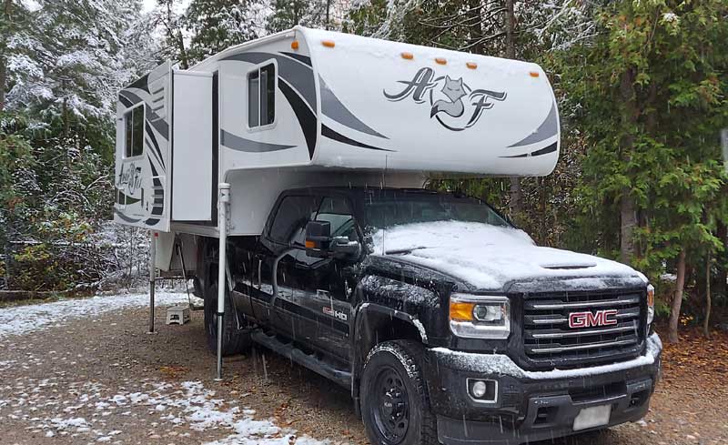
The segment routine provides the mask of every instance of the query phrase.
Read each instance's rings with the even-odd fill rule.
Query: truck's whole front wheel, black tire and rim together
[[[361,378],[361,417],[374,445],[437,445],[435,416],[422,376],[424,349],[386,341],[369,352]]]

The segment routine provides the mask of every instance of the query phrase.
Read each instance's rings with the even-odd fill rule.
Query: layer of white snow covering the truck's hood
[[[413,223],[372,234],[375,255],[396,255],[483,290],[514,279],[578,278],[572,288],[603,288],[601,278],[642,274],[621,263],[535,245],[526,232],[463,221]]]

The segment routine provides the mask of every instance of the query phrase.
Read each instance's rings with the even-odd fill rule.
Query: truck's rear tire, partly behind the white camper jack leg
[[[247,352],[252,345],[252,340],[248,332],[238,329],[238,321],[229,292],[225,296],[223,323],[222,355],[231,356]],[[205,296],[205,333],[207,348],[213,354],[217,354],[217,283],[207,288]]]

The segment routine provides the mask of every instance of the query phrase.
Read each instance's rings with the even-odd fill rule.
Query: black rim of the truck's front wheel
[[[399,372],[393,368],[379,370],[372,386],[370,410],[379,434],[395,445],[407,436],[410,427],[410,400]]]

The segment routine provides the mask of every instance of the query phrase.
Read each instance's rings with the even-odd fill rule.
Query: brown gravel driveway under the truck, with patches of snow
[[[265,349],[227,359],[216,382],[202,313],[166,326],[159,308],[147,334],[144,301],[0,308],[0,444],[367,443],[345,390]],[[728,444],[726,376],[713,374],[667,363],[645,420],[555,443]]]

